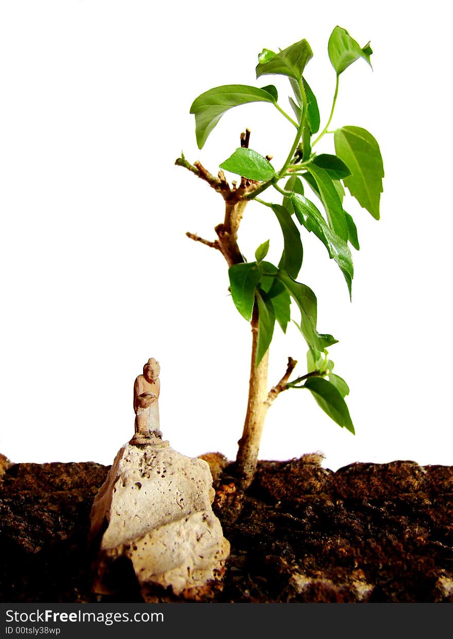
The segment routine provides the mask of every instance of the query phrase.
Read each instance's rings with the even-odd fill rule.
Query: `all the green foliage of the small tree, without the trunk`
[[[306,40],[287,49],[273,52],[264,49],[258,56],[257,78],[262,75],[283,75],[289,79],[292,95],[289,104],[294,117],[278,104],[278,92],[273,85],[255,88],[242,84],[219,86],[198,96],[191,106],[195,114],[196,139],[202,148],[221,116],[241,104],[267,102],[294,125],[296,135],[280,170],[250,148],[237,148],[220,164],[221,169],[242,178],[258,182],[247,199],[269,206],[278,220],[283,235],[283,254],[278,265],[266,261],[269,240],[255,252],[254,261],[230,266],[230,291],[237,310],[251,320],[253,307],[258,305],[258,349],[260,362],[271,343],[277,322],[286,332],[290,321],[290,304],[300,312],[296,324],[308,344],[308,374],[287,384],[290,388],[307,389],[321,408],[342,427],[354,432],[344,401],[349,393],[346,382],[332,373],[333,362],[326,350],[337,342],[332,335],[317,332],[317,300],[314,292],[297,281],[303,261],[301,233],[314,233],[326,247],[329,257],[337,263],[347,283],[349,295],[354,269],[351,245],[359,249],[356,225],[344,209],[345,187],[361,206],[379,219],[379,198],[384,175],[379,146],[365,129],[355,126],[330,132],[340,75],[354,61],[362,58],[370,66],[369,43],[360,47],[346,29],[335,27],[328,43],[328,54],[335,69],[337,82],[326,126],[319,133],[320,116],[316,97],[306,82],[304,72],[312,58]],[[324,135],[333,133],[335,153],[314,151]],[[317,137],[315,137],[317,136]],[[284,180],[284,186],[279,183]],[[310,189],[310,197],[306,189]],[[271,188],[283,196],[282,203],[263,201],[257,196]],[[313,201],[314,196],[315,201]],[[321,212],[322,211],[322,212]],[[293,305],[293,307],[294,307]]]

